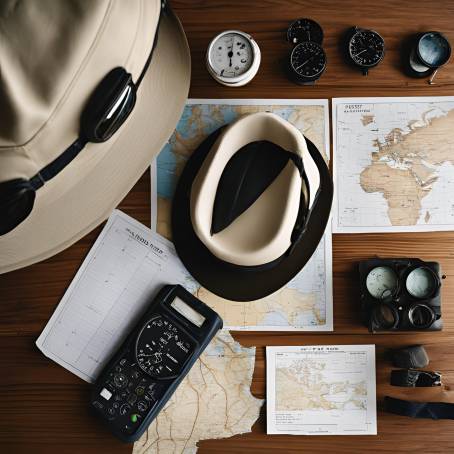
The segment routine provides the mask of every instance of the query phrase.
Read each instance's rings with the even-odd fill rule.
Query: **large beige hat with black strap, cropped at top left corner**
[[[106,219],[187,97],[183,29],[159,0],[0,2],[0,272]]]

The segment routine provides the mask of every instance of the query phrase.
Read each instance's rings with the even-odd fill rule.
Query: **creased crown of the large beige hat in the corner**
[[[108,0],[0,3],[0,146],[27,142],[46,122],[108,6]]]

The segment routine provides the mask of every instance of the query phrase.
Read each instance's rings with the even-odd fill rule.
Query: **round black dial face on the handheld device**
[[[136,343],[139,367],[155,378],[173,378],[191,356],[189,337],[169,319],[157,315],[142,328]]]

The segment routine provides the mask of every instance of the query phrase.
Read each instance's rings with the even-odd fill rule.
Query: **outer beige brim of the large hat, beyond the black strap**
[[[162,14],[156,48],[130,117],[36,195],[28,218],[0,237],[0,273],[46,259],[103,222],[173,132],[189,91],[190,53],[179,20]]]

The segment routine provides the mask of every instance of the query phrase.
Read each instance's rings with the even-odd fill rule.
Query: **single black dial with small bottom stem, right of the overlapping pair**
[[[348,42],[348,55],[352,62],[367,74],[385,56],[385,41],[373,30],[355,28]]]

